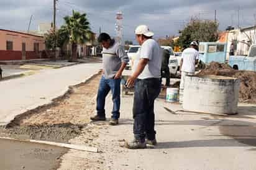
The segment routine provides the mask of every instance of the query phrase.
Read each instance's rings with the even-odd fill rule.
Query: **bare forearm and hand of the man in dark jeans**
[[[130,76],[130,78],[127,80],[126,86],[128,86],[128,87],[134,86],[135,79],[137,79],[137,77],[142,73],[142,71],[144,70],[145,66],[148,63],[149,63],[149,59],[147,59],[147,58],[140,59],[137,69],[134,71],[132,76]]]

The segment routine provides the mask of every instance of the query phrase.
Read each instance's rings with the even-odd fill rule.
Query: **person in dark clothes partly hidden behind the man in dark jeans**
[[[165,86],[170,86],[170,70],[169,70],[169,59],[170,59],[170,51],[167,49],[163,49],[162,55],[162,66],[161,66],[161,80],[162,78],[166,78]]]

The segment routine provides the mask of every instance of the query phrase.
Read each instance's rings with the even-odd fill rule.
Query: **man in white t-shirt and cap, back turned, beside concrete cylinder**
[[[181,90],[184,89],[185,77],[188,75],[194,75],[194,71],[199,60],[199,53],[196,49],[198,49],[198,43],[191,42],[190,47],[186,48],[181,55]]]

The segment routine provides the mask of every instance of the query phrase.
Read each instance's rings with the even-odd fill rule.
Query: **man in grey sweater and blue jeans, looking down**
[[[96,99],[97,114],[91,117],[91,120],[106,120],[105,99],[109,91],[112,92],[112,117],[110,125],[117,125],[120,117],[120,86],[122,71],[126,68],[129,58],[124,51],[124,48],[115,42],[114,39],[102,33],[98,37],[98,42],[102,45],[103,51],[103,76],[99,81],[98,95]]]

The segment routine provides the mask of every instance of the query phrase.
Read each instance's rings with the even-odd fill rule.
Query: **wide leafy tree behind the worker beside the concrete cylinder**
[[[219,24],[214,20],[199,20],[192,18],[185,29],[180,30],[178,45],[189,47],[192,41],[216,42],[218,39]]]

